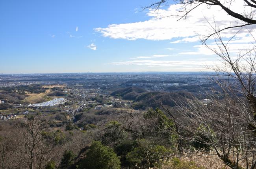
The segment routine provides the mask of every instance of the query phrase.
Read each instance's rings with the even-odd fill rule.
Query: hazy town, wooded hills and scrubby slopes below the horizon
[[[118,156],[123,168],[134,168],[139,164],[139,161],[134,162],[134,156],[138,154],[132,154],[137,149],[151,149],[161,157],[150,159],[152,164],[141,160],[140,165],[157,166],[161,163],[158,158],[170,156],[177,149],[176,136],[168,132],[173,129],[172,116],[179,116],[178,103],[188,106],[187,100],[198,100],[202,105],[209,104],[211,99],[206,93],[221,91],[216,80],[213,73],[0,75],[0,134],[4,138],[6,130],[13,134],[20,130],[25,135],[31,134],[23,127],[43,124],[43,131],[39,133],[46,133],[41,133],[38,138],[45,139],[40,141],[44,145],[40,151],[52,153],[45,153],[51,160],[42,157],[45,167],[54,165],[72,169],[83,166],[83,159],[91,149],[89,146],[102,149],[107,146],[109,152],[116,154],[113,156]],[[235,84],[233,79],[222,80]],[[21,126],[20,123],[24,124]],[[22,139],[12,140],[9,136],[6,138],[11,142]],[[46,144],[49,140],[52,143]],[[156,143],[158,147],[155,147]],[[199,142],[186,144],[193,149],[208,148]],[[70,159],[65,159],[67,156]],[[171,162],[170,165],[174,165],[176,161]],[[179,162],[192,166],[191,169],[201,167],[194,162]],[[13,164],[19,165],[26,164]]]

